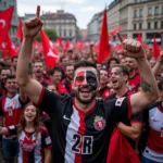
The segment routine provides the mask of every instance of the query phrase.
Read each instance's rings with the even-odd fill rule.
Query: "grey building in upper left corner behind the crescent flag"
[[[10,36],[14,38],[18,25],[17,2],[16,0],[0,0],[0,12],[12,5],[14,7],[14,12],[13,12],[11,27],[10,27]]]

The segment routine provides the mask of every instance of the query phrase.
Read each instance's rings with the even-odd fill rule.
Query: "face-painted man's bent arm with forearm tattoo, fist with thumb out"
[[[149,63],[141,43],[133,39],[123,39],[118,34],[118,39],[123,43],[123,50],[118,51],[125,57],[135,58],[138,62],[138,68],[141,77],[141,90],[130,96],[131,113],[138,113],[150,103],[159,98],[159,89],[156,80]]]

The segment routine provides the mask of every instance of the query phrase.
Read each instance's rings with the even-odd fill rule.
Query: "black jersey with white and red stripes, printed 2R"
[[[117,122],[130,116],[130,99],[95,101],[84,113],[68,95],[42,88],[37,105],[52,120],[53,162],[104,163],[109,141]]]

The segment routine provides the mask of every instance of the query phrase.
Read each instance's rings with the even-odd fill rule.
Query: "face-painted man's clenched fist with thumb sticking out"
[[[117,33],[117,37],[123,45],[123,49],[117,51],[117,54],[129,58],[145,58],[145,51],[141,43],[134,39],[124,39],[123,36]]]

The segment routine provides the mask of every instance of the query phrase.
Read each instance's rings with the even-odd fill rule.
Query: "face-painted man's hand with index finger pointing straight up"
[[[41,29],[42,22],[40,21],[39,15],[40,15],[40,7],[38,5],[35,17],[29,18],[24,23],[23,28],[24,37],[34,38]]]

